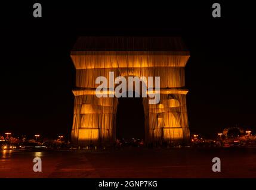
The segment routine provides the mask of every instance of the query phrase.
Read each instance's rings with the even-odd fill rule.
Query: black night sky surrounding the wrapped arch
[[[33,18],[41,2],[42,18]],[[256,128],[255,10],[245,1],[80,4],[42,1],[1,5],[0,133],[70,134],[78,36],[181,36],[191,132]],[[127,103],[129,107],[129,103]],[[130,108],[127,108],[130,109]]]

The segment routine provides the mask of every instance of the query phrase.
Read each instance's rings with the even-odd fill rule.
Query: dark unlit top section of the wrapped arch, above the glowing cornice
[[[181,37],[81,36],[72,49],[77,51],[164,51],[189,55]]]

